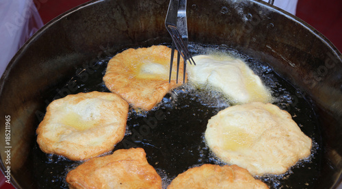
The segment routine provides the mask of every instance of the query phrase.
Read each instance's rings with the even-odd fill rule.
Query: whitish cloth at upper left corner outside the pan
[[[0,76],[18,49],[42,25],[32,0],[0,1]]]

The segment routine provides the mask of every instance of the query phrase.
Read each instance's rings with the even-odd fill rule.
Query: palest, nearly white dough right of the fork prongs
[[[240,59],[228,55],[196,55],[189,65],[189,81],[220,90],[235,103],[269,103],[272,95],[258,75]]]

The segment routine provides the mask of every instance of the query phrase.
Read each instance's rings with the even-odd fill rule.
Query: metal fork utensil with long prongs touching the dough
[[[172,51],[170,61],[170,75],[169,83],[172,75],[172,64],[174,58],[174,49],[177,49],[177,72],[176,83],[178,84],[179,62],[182,56],[184,60],[183,67],[183,83],[185,83],[185,71],[187,60],[190,64],[195,64],[192,55],[187,50],[187,14],[186,14],[187,0],[170,0],[168,7],[168,14],[166,14],[165,26],[172,38]]]

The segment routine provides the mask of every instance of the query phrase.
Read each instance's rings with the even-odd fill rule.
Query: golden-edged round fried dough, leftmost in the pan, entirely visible
[[[68,95],[52,101],[37,129],[45,153],[86,160],[114,149],[126,131],[129,105],[111,92]]]

